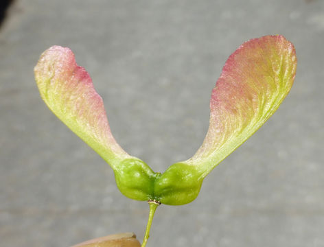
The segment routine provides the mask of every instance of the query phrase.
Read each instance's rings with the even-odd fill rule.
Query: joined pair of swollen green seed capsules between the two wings
[[[134,200],[157,200],[168,205],[192,202],[203,183],[203,177],[192,165],[175,163],[160,174],[135,158],[122,161],[115,170],[115,178],[124,196]]]

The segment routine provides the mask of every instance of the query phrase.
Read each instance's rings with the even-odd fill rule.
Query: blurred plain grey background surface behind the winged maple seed
[[[156,172],[191,157],[222,65],[245,40],[283,34],[297,77],[277,113],[207,176],[161,205],[148,246],[324,246],[324,1],[16,0],[0,30],[1,246],[71,246],[132,231],[148,204],[40,99],[33,67],[70,47],[126,152]]]

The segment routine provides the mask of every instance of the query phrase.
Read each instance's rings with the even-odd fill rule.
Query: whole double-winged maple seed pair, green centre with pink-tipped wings
[[[115,172],[119,190],[134,200],[181,205],[198,196],[203,179],[275,113],[296,73],[294,46],[283,36],[242,44],[225,63],[210,100],[209,130],[196,154],[155,173],[115,141],[102,98],[69,48],[54,46],[36,65],[40,96]]]

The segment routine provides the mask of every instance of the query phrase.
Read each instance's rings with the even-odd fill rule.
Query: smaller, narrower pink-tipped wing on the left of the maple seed
[[[111,134],[102,97],[69,48],[54,46],[44,51],[34,73],[49,109],[113,168],[131,157]]]

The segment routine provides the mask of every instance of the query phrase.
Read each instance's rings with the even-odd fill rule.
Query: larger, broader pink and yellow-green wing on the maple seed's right
[[[181,162],[205,177],[275,113],[296,73],[294,46],[280,35],[242,44],[225,63],[210,100],[209,130],[196,154]]]

